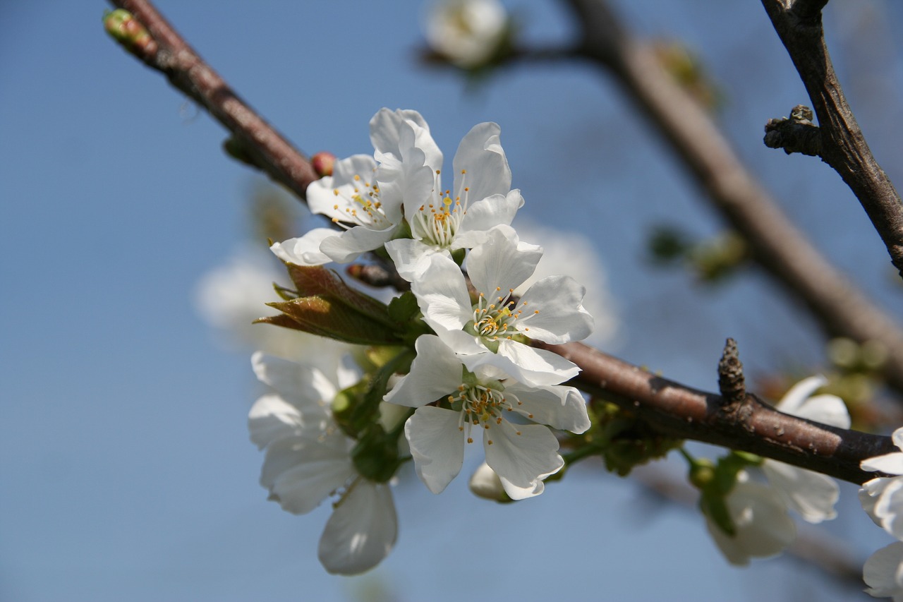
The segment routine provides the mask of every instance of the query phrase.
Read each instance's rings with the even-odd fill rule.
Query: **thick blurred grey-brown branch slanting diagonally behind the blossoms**
[[[607,2],[567,0],[567,4],[582,29],[580,54],[621,84],[694,176],[712,207],[747,241],[752,259],[809,309],[825,334],[883,343],[889,353],[884,376],[891,387],[903,391],[899,326],[787,220],[703,108],[662,69],[651,47],[631,38]]]

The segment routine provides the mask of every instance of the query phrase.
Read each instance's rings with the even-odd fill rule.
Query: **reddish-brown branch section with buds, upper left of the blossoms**
[[[306,198],[307,185],[319,177],[307,158],[238,98],[154,5],[146,0],[110,0],[110,4],[133,14],[155,42],[130,50],[231,132],[226,143],[230,155],[268,174],[298,198]]]

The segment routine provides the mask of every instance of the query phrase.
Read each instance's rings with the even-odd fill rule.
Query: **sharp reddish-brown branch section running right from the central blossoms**
[[[581,367],[570,384],[635,413],[667,437],[746,451],[857,484],[877,476],[860,468],[862,460],[899,451],[890,437],[783,414],[754,395],[731,403],[582,343],[532,344]]]

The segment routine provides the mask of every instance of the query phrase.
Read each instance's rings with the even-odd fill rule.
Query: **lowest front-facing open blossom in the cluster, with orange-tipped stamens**
[[[461,472],[465,441],[473,443],[477,430],[487,464],[512,499],[542,493],[542,480],[564,464],[558,439],[544,425],[575,433],[590,428],[580,392],[527,386],[490,365],[470,372],[432,334],[420,336],[415,348],[411,372],[386,401],[416,408],[405,437],[417,475],[430,491],[442,493]]]

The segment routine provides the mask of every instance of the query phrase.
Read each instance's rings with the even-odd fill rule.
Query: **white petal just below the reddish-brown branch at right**
[[[799,513],[804,521],[830,521],[837,516],[834,503],[840,496],[840,488],[830,476],[775,460],[765,460],[762,471],[787,507]]]

